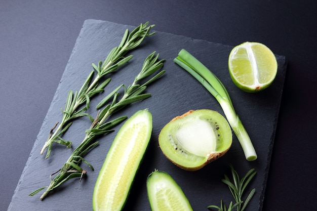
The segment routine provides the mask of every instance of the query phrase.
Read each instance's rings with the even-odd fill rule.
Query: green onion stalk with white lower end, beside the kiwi
[[[174,59],[174,62],[199,80],[217,99],[234,134],[242,146],[246,159],[249,161],[256,160],[257,154],[250,137],[239,116],[235,113],[229,94],[222,82],[206,66],[184,49],[179,52],[178,56]]]

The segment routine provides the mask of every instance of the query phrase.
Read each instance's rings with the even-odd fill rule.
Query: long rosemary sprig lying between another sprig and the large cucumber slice
[[[51,175],[52,177],[53,175],[58,173],[58,175],[53,180],[51,179],[50,185],[35,190],[34,192],[29,194],[30,196],[33,196],[36,193],[40,192],[41,190],[47,188],[47,190],[40,197],[40,199],[43,200],[50,191],[62,185],[67,180],[72,178],[77,178],[77,177],[80,177],[82,179],[82,177],[87,173],[85,170],[83,170],[83,168],[80,167],[80,163],[82,161],[85,162],[92,170],[94,170],[93,166],[87,160],[84,159],[84,155],[88,153],[88,151],[90,151],[96,145],[98,145],[98,141],[95,141],[95,138],[97,136],[112,132],[113,130],[111,130],[111,128],[113,128],[113,126],[117,125],[118,123],[124,121],[127,118],[126,116],[122,116],[122,117],[118,117],[114,120],[106,122],[106,120],[111,114],[122,109],[126,105],[144,100],[151,96],[150,94],[142,94],[146,89],[146,85],[148,85],[149,83],[159,78],[162,74],[165,73],[165,70],[162,70],[159,73],[155,74],[153,77],[151,77],[149,80],[144,82],[142,85],[139,85],[138,82],[139,80],[152,75],[155,71],[163,67],[163,63],[165,60],[157,61],[158,57],[159,57],[159,54],[155,56],[155,52],[150,54],[145,59],[142,70],[135,77],[132,85],[130,85],[127,89],[125,85],[121,85],[119,87],[119,88],[121,87],[125,88],[124,89],[125,93],[120,100],[117,100],[119,89],[115,89],[114,92],[111,92],[105,98],[105,100],[102,101],[99,107],[106,104],[108,100],[112,99],[111,103],[106,105],[101,110],[101,112],[98,112],[97,117],[93,119],[90,129],[86,130],[85,132],[86,136],[84,140],[73,151],[73,153],[70,155],[68,160],[63,164],[63,167],[59,171]]]

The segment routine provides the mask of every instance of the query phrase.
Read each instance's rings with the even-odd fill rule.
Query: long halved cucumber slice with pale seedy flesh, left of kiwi
[[[152,115],[137,111],[115,136],[100,170],[93,210],[122,210],[152,133]]]

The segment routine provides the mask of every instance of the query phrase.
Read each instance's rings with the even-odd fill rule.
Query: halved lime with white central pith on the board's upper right
[[[266,89],[278,72],[278,62],[273,52],[255,42],[234,47],[229,54],[228,66],[233,83],[245,92]]]

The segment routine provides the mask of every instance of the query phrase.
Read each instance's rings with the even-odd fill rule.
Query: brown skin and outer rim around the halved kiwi
[[[221,119],[221,121],[222,121],[222,125],[221,125],[221,128],[224,128],[224,131],[225,131],[225,133],[227,134],[227,136],[226,136],[226,138],[227,138],[227,144],[226,144],[226,147],[225,147],[225,149],[223,149],[223,150],[221,150],[221,151],[215,151],[215,152],[210,152],[209,154],[208,154],[208,156],[205,156],[204,158],[202,158],[203,159],[203,162],[200,162],[200,164],[198,164],[198,165],[192,165],[192,166],[186,166],[186,165],[184,165],[184,164],[181,164],[180,162],[177,162],[177,161],[175,161],[174,159],[172,159],[172,158],[170,158],[170,152],[169,151],[165,151],[164,150],[164,148],[166,148],[166,147],[164,147],[163,145],[162,145],[162,141],[160,141],[160,139],[162,139],[162,135],[161,135],[161,133],[162,133],[162,131],[164,130],[164,128],[168,125],[168,124],[170,124],[171,122],[173,122],[173,121],[175,121],[175,120],[177,120],[177,119],[181,119],[181,118],[184,118],[185,116],[187,116],[187,115],[190,115],[190,114],[192,114],[193,112],[195,112],[195,111],[208,111],[208,112],[214,112],[214,113],[217,113],[217,115],[218,115],[218,118],[221,116],[221,118],[223,118],[223,119]],[[220,115],[220,116],[219,116]],[[218,126],[218,125],[217,125]],[[162,150],[162,152],[163,152],[163,154],[172,162],[172,163],[174,163],[175,165],[177,165],[178,167],[180,167],[180,168],[182,168],[183,170],[186,170],[186,171],[197,171],[197,170],[200,170],[202,167],[204,167],[205,165],[207,165],[207,164],[209,164],[209,163],[211,163],[212,161],[214,161],[214,160],[216,160],[216,159],[218,159],[219,157],[221,157],[221,156],[223,156],[228,150],[229,150],[229,148],[231,147],[231,143],[232,143],[232,132],[231,132],[231,128],[230,128],[230,125],[229,125],[229,123],[226,121],[226,119],[221,115],[221,114],[219,114],[218,112],[216,112],[216,111],[212,111],[212,110],[207,110],[207,109],[202,109],[202,110],[189,110],[189,111],[187,111],[186,113],[184,113],[184,114],[182,114],[182,115],[180,115],[180,116],[176,116],[176,117],[174,117],[169,123],[167,123],[166,125],[165,125],[165,127],[162,129],[162,131],[161,131],[161,133],[160,133],[160,135],[159,135],[159,144],[160,144],[160,147],[161,147],[161,150]],[[216,130],[218,130],[218,129],[216,129]],[[222,129],[223,130],[223,129]],[[229,134],[229,135],[228,135]],[[177,150],[177,149],[175,149],[175,150]]]

